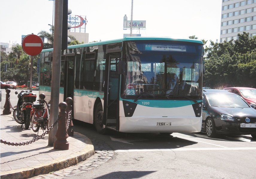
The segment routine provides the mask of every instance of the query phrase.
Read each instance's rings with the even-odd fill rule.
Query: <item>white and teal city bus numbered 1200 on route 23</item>
[[[53,49],[41,52],[40,93],[50,99]],[[203,43],[195,39],[125,37],[68,46],[61,52],[60,101],[72,117],[127,133],[199,132]]]

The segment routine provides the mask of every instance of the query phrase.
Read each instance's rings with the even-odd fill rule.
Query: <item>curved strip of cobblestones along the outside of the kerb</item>
[[[114,151],[110,149],[108,144],[97,140],[91,140],[91,142],[93,143],[95,154],[89,157],[87,160],[80,162],[75,166],[70,166],[66,169],[50,172],[49,174],[45,175],[38,175],[32,177],[31,179],[51,179],[75,176],[79,173],[91,170],[112,158]]]

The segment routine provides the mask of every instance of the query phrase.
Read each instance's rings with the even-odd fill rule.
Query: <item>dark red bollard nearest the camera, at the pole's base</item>
[[[59,125],[56,132],[55,137],[57,140],[53,143],[53,149],[56,150],[68,150],[69,142],[67,142],[67,138],[69,137],[66,130],[66,102],[60,102],[59,104]]]

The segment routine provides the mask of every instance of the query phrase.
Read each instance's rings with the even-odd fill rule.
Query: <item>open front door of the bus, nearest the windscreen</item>
[[[119,130],[119,75],[117,73],[117,63],[121,58],[121,53],[110,53],[108,57],[106,62],[103,119],[107,128]]]

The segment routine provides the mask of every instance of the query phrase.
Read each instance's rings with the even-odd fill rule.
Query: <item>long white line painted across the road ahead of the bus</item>
[[[233,147],[233,148],[177,148],[177,149],[128,149],[115,150],[114,152],[155,152],[155,151],[198,151],[198,150],[256,150],[256,147]]]

